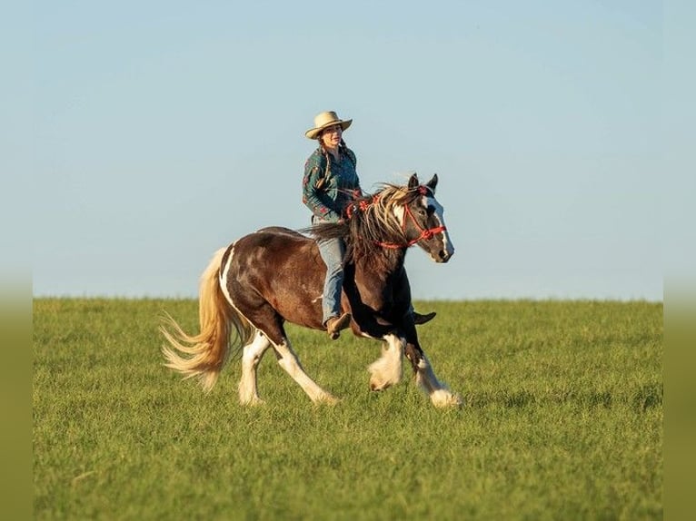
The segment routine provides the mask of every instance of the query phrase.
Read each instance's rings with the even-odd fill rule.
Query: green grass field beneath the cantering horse
[[[662,304],[420,302],[436,409],[404,370],[367,388],[380,344],[289,327],[314,406],[275,361],[266,404],[163,367],[159,316],[194,300],[34,301],[36,519],[661,519]],[[404,366],[404,369],[407,366]]]

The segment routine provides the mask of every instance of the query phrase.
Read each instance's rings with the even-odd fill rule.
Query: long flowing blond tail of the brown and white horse
[[[220,270],[225,248],[216,251],[201,275],[198,312],[201,330],[188,335],[167,314],[160,328],[168,346],[162,348],[166,367],[179,371],[184,378],[197,377],[205,391],[210,391],[224,367],[230,351],[230,334],[236,330],[237,339],[251,337],[249,322],[225,300],[220,288]],[[170,332],[165,326],[169,326]]]

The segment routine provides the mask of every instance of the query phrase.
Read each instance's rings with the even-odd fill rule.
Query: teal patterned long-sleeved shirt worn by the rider
[[[345,148],[336,161],[329,155],[331,168],[322,149],[316,149],[304,163],[302,201],[312,211],[312,221],[337,222],[350,202],[362,195],[355,172],[355,154]]]

